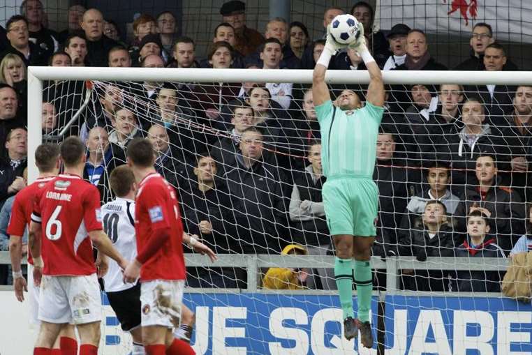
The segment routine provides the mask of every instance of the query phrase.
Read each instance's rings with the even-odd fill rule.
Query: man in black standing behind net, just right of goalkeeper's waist
[[[379,211],[374,254],[385,256],[397,246],[401,212],[406,209],[409,192],[420,180],[417,172],[400,167],[404,161],[397,156],[396,138],[380,130],[377,136],[377,165],[373,180],[378,186]]]

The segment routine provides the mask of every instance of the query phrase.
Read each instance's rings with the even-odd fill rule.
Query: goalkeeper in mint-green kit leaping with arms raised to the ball
[[[373,281],[369,259],[378,209],[378,188],[371,177],[385,90],[380,69],[367,49],[362,24],[359,31],[360,36],[349,48],[362,57],[371,79],[364,107],[350,90],[342,91],[334,104],[331,101],[325,71],[334,52],[345,45],[337,43],[328,28],[325,48],[313,71],[312,95],[321,130],[323,174],[327,176],[323,205],[336,248],[334,277],[343,312],[343,334],[350,340],[360,330],[360,342],[370,348]],[[357,318],[353,313],[353,281],[357,287]]]

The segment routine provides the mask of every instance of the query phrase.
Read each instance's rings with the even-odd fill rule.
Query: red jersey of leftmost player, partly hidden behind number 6
[[[54,177],[39,178],[29,186],[26,186],[15,195],[13,201],[13,208],[11,209],[11,217],[7,233],[10,236],[23,236],[26,226],[31,222],[31,212],[34,211],[35,197],[45,184],[54,179]],[[34,258],[28,250],[28,263],[33,265]]]

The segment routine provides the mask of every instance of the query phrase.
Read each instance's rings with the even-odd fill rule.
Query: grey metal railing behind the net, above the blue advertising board
[[[423,292],[403,291],[399,289],[401,270],[451,270],[451,271],[505,271],[509,259],[505,258],[468,258],[468,257],[429,257],[425,262],[418,262],[414,257],[388,257],[383,260],[380,257],[371,258],[373,269],[383,270],[386,273],[386,294],[416,294]],[[24,260],[25,262],[25,260]],[[222,254],[218,260],[212,263],[204,255],[185,254],[186,266],[211,266],[211,267],[235,267],[247,270],[247,288],[242,290],[230,289],[229,292],[263,292],[272,290],[261,289],[260,270],[270,267],[281,268],[333,268],[334,256],[331,255],[249,255],[249,254]],[[0,252],[0,264],[10,264],[9,252]],[[197,289],[205,293],[207,289]],[[194,289],[191,289],[195,292]],[[207,292],[227,292],[224,289],[213,288]],[[275,290],[276,293],[284,293]],[[295,293],[286,291],[286,293]],[[298,291],[304,294],[327,294],[328,291],[308,289]],[[336,293],[336,292],[334,292]],[[461,292],[430,292],[431,295],[464,295],[470,293]],[[478,292],[475,292],[478,295]]]

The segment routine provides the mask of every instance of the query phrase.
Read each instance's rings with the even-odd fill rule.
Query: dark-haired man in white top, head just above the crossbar
[[[268,38],[260,51],[260,60],[263,61],[263,69],[279,69],[281,59],[283,59],[281,43],[276,38]],[[266,88],[272,95],[272,100],[279,103],[283,109],[290,107],[292,86],[293,84],[289,82],[266,83]]]

